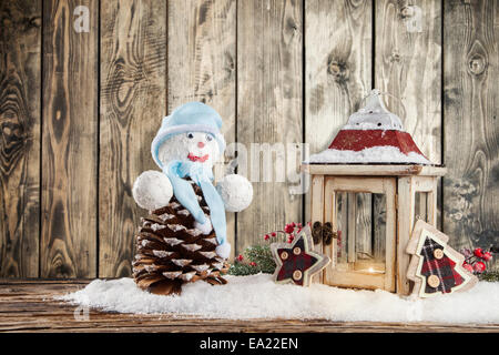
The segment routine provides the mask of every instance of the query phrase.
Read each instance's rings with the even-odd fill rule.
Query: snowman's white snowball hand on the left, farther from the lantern
[[[173,195],[170,179],[160,171],[147,170],[136,178],[133,199],[142,209],[153,211],[165,206]]]

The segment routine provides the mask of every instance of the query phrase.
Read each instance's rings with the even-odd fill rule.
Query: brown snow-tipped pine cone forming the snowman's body
[[[201,189],[193,184],[200,206],[210,216]],[[175,197],[141,220],[136,235],[133,277],[142,290],[154,294],[181,294],[182,285],[203,280],[226,284],[222,277],[228,264],[215,253],[215,231],[204,235],[194,227],[194,217]]]

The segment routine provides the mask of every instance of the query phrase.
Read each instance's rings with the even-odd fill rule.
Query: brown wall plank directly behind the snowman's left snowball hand
[[[166,3],[101,3],[99,275],[131,274],[140,210],[134,180],[157,169],[151,141],[166,108]]]

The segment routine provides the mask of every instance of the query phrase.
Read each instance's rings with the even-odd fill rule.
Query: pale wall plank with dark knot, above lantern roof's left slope
[[[369,0],[305,2],[304,119],[310,153],[330,144],[371,89],[371,11]],[[368,202],[361,203],[367,210]]]

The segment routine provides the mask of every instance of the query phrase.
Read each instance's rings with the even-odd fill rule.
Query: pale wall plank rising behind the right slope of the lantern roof
[[[420,16],[418,12],[420,11]],[[411,27],[411,21],[416,26]],[[376,1],[375,87],[421,152],[441,162],[441,2]]]

